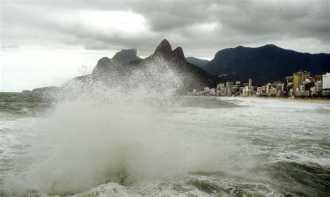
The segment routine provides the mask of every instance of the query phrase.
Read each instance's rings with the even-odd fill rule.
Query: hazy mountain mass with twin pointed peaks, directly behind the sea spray
[[[93,73],[74,80],[84,81],[88,84],[92,81],[101,81],[103,84],[110,86],[127,87],[132,86],[132,76],[134,84],[150,83],[152,86],[158,86],[168,72],[177,74],[180,79],[180,92],[185,93],[193,88],[203,89],[205,86],[214,87],[219,82],[219,78],[209,72],[203,70],[192,63],[187,62],[181,47],[172,50],[168,40],[162,40],[157,46],[155,52],[147,58],[139,58],[136,56],[136,50],[122,50],[118,52],[112,59],[101,58],[95,66]],[[135,74],[135,75],[134,75]],[[136,74],[140,74],[136,79]],[[149,81],[148,81],[149,80]],[[165,80],[166,81],[166,80]],[[70,81],[70,83],[74,81]],[[152,82],[151,82],[152,83]],[[66,84],[65,86],[68,86]]]

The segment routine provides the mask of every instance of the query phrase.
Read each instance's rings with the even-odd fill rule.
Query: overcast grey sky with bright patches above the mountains
[[[60,86],[120,49],[148,56],[164,38],[185,56],[207,59],[269,43],[330,52],[329,0],[0,2],[0,91]]]

